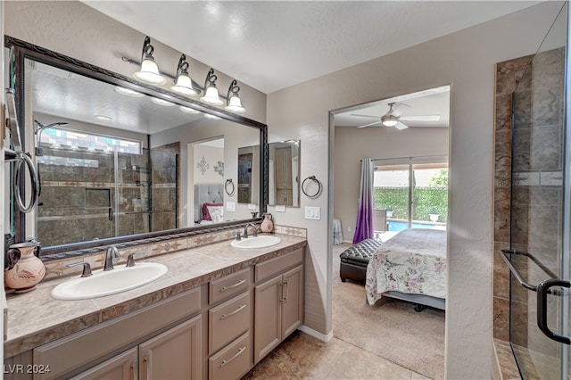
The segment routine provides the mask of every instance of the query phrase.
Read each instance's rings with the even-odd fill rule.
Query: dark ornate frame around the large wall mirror
[[[200,103],[194,99],[187,98],[183,95],[178,95],[172,93],[161,87],[154,87],[152,85],[147,85],[143,82],[139,82],[134,78],[128,78],[119,73],[105,70],[93,64],[79,61],[70,56],[59,54],[54,51],[48,50],[41,46],[30,44],[26,41],[22,41],[15,37],[4,36],[4,47],[13,49],[13,64],[14,76],[15,76],[15,103],[16,103],[16,114],[18,121],[20,123],[20,134],[21,134],[21,145],[25,146],[25,110],[24,102],[21,100],[24,98],[25,94],[25,83],[24,83],[24,60],[26,58],[46,63],[48,65],[54,66],[62,70],[69,70],[70,72],[83,75],[88,78],[93,78],[96,80],[103,81],[115,86],[127,87],[129,89],[135,90],[145,95],[155,96],[167,100],[169,102],[178,103],[180,105],[185,105],[190,108],[194,108],[200,112],[210,113],[216,115],[224,120],[229,120],[236,122],[238,124],[244,125],[246,127],[257,128],[260,130],[260,155],[261,155],[261,165],[260,165],[260,215],[267,211],[268,207],[268,126],[259,121],[245,118],[244,116],[237,115],[226,110],[222,110],[211,106],[209,104]],[[8,72],[12,72],[12,68],[8,68]],[[12,78],[8,78],[7,86],[12,87]],[[25,189],[21,187],[21,194],[25,196]],[[22,198],[26,199],[26,198]],[[16,211],[13,218],[15,219],[15,236],[14,243],[21,243],[26,239],[26,214],[21,211]],[[247,222],[257,222],[261,221],[261,217],[252,219],[239,219],[229,222],[222,222],[217,224],[215,227],[212,225],[199,226],[199,227],[185,227],[170,229],[160,232],[150,232],[145,234],[137,235],[125,235],[117,237],[109,237],[104,239],[99,239],[95,241],[79,242],[72,244],[62,244],[54,245],[51,247],[42,247],[42,258],[47,260],[61,259],[62,253],[74,252],[73,254],[78,254],[81,252],[95,252],[101,249],[102,246],[108,244],[118,244],[120,247],[127,247],[130,245],[145,244],[150,242],[157,242],[161,240],[168,240],[176,237],[184,237],[187,235],[199,235],[209,232],[215,232],[220,230],[226,230],[236,227],[243,227]],[[41,243],[41,242],[40,242]]]

